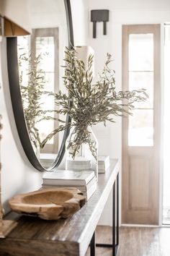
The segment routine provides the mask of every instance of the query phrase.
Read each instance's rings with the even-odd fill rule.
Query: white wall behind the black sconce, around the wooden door
[[[92,38],[92,22],[90,22],[91,9],[109,9],[109,22],[107,22],[107,35],[102,35],[102,22],[97,22],[97,38]],[[102,69],[104,59],[109,52],[112,54],[115,69],[117,90],[122,88],[122,25],[149,24],[170,21],[170,1],[164,0],[89,0],[89,40],[88,44],[94,48],[95,72]],[[99,140],[99,153],[120,159],[121,170],[121,144],[122,124],[121,119],[116,119],[116,124],[109,124],[106,128],[99,124],[94,127],[94,132]],[[100,224],[112,223],[112,209],[109,197]]]

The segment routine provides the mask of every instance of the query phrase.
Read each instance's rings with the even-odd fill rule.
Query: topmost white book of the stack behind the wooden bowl
[[[42,178],[43,185],[73,185],[82,186],[88,184],[94,177],[94,171],[65,171],[57,170],[46,174]]]

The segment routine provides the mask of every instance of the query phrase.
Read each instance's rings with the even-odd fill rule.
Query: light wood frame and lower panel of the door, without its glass
[[[153,34],[153,146],[128,145],[129,119],[122,119],[122,223],[158,225],[161,143],[160,25],[122,26],[122,88],[129,90],[129,36]],[[148,93],[148,92],[147,92]],[[146,108],[147,109],[147,108]]]

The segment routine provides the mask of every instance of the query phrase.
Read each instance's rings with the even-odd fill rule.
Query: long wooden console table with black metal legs
[[[107,172],[99,174],[97,191],[71,218],[44,221],[22,216],[18,220],[17,227],[5,239],[0,239],[0,256],[84,256],[89,244],[91,256],[95,255],[96,246],[112,247],[112,255],[117,255],[118,179],[118,162],[111,160]],[[112,244],[96,244],[95,229],[111,191],[113,191]]]

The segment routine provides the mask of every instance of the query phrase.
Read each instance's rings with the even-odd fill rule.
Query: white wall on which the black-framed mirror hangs
[[[76,16],[79,7],[79,17]],[[85,17],[87,12],[84,12],[86,1],[74,0],[72,1],[73,17],[75,24],[79,24],[79,19],[82,17],[81,24],[84,30],[75,30],[75,42],[77,44],[86,44],[85,38],[87,35],[87,22]],[[21,10],[20,10],[21,11]],[[87,18],[86,18],[87,20]],[[38,189],[42,183],[42,173],[35,170],[27,157],[24,155],[22,145],[17,135],[17,128],[14,123],[14,116],[12,113],[12,104],[9,95],[9,81],[7,76],[6,66],[6,39],[3,38],[0,43],[0,114],[2,114],[2,122],[4,129],[2,130],[3,139],[1,140],[1,163],[2,163],[2,201],[7,210],[7,200],[20,192],[29,192]]]

